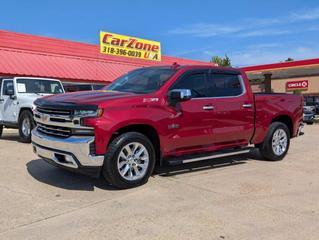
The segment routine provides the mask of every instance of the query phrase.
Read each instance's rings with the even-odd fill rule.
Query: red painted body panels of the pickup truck
[[[199,68],[216,67],[181,67],[160,90],[147,95],[93,91],[61,94],[46,99],[94,104],[104,109],[102,117],[91,118],[86,122],[95,128],[97,154],[105,153],[113,133],[135,124],[145,124],[157,131],[163,156],[214,151],[249,143],[258,144],[263,141],[271,122],[280,116],[291,119],[292,136],[296,136],[302,121],[302,96],[254,95],[244,72],[242,77],[246,92],[236,99],[191,99],[180,103],[179,107],[170,106],[167,98],[170,86],[186,71]],[[203,110],[202,106],[208,104],[215,109]],[[243,108],[243,104],[252,104],[252,108]]]

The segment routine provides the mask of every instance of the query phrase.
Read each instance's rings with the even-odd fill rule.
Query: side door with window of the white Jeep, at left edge
[[[1,121],[16,122],[17,100],[9,96],[8,89],[14,89],[13,80],[4,79],[2,81],[1,96],[0,96],[0,112]]]

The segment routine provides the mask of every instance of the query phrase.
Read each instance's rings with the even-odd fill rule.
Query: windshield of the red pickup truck
[[[151,93],[161,86],[176,72],[171,68],[140,68],[116,79],[105,90],[131,93]]]

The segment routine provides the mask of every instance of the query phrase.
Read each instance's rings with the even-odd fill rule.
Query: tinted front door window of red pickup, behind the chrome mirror
[[[170,89],[190,89],[192,98],[207,97],[206,78],[207,74],[205,72],[189,73],[177,80]]]

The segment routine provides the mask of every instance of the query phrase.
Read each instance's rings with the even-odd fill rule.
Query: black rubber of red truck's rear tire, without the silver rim
[[[273,148],[272,148],[273,135],[274,135],[275,131],[278,129],[284,130],[285,133],[287,134],[287,138],[288,138],[286,151],[283,154],[281,154],[280,156],[276,155],[273,151]],[[269,131],[265,137],[264,142],[261,144],[260,152],[266,160],[279,161],[279,160],[282,160],[287,155],[288,150],[289,150],[289,146],[290,146],[290,132],[289,132],[288,127],[281,122],[273,122],[269,127]]]

